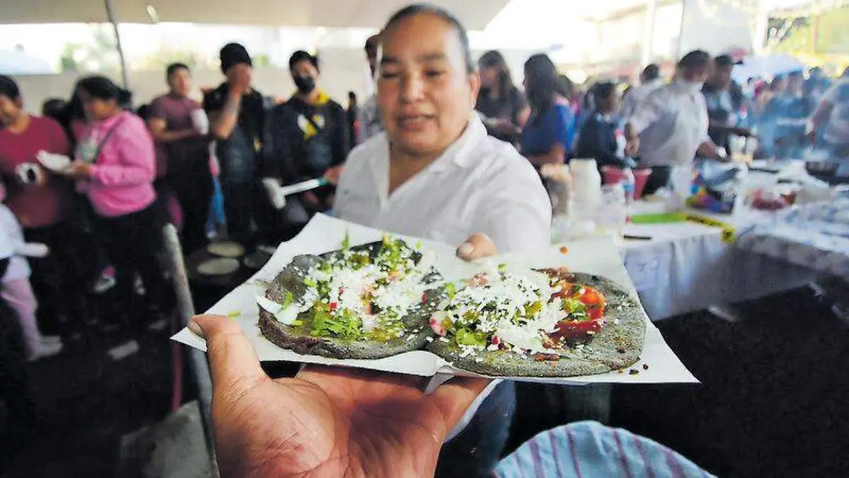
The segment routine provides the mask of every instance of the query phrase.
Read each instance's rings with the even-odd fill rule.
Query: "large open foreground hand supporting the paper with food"
[[[273,380],[239,326],[197,316],[212,375],[212,426],[221,475],[433,476],[442,442],[489,384],[307,366]]]

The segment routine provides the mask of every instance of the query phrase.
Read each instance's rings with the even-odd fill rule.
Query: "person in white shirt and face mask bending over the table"
[[[685,54],[675,80],[655,89],[627,119],[625,154],[653,168],[646,194],[669,182],[672,167],[691,168],[696,151],[724,159],[707,134],[707,105],[701,94],[711,66],[711,55],[705,51]]]

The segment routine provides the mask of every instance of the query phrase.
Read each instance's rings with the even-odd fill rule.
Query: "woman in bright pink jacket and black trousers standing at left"
[[[109,78],[82,78],[76,92],[88,124],[65,174],[88,196],[95,232],[115,265],[116,312],[138,325],[161,306],[157,253],[164,215],[153,187],[154,142],[143,120],[121,109],[128,93]],[[134,297],[137,273],[144,286],[144,306]]]

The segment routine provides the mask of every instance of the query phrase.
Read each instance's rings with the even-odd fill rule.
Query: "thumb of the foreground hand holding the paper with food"
[[[213,395],[239,396],[268,378],[236,322],[223,316],[194,316],[188,328],[206,339]]]

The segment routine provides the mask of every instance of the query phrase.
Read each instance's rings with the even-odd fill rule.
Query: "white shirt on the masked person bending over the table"
[[[628,122],[639,134],[637,156],[644,166],[691,164],[707,135],[707,105],[700,87],[683,82],[655,89]]]

